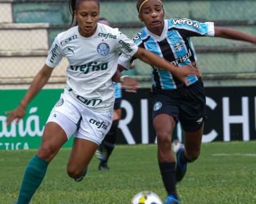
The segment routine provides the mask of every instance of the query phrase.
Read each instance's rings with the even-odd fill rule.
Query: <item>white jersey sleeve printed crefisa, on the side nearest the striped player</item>
[[[138,46],[135,45],[133,41],[127,38],[122,32],[118,32],[117,50],[131,57],[137,52]]]

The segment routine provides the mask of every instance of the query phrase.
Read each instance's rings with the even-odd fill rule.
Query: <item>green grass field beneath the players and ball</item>
[[[1,204],[17,200],[23,172],[35,152],[0,151]],[[111,172],[98,171],[94,157],[80,183],[66,173],[69,152],[62,149],[53,159],[31,203],[128,204],[143,190],[165,199],[156,145],[117,146],[109,161]],[[177,188],[182,204],[256,203],[256,141],[204,143]]]

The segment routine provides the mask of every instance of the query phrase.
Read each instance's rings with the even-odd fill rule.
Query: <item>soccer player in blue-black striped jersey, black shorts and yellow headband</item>
[[[141,48],[164,58],[176,66],[196,66],[196,56],[190,37],[222,37],[256,43],[256,38],[243,32],[215,27],[213,22],[197,22],[189,19],[164,19],[161,0],[138,0],[139,19],[146,27],[133,41]],[[118,69],[129,69],[135,59],[122,54]],[[153,67],[154,83],[150,93],[153,105],[153,124],[157,134],[158,163],[167,191],[166,204],[179,203],[175,184],[186,173],[187,163],[200,154],[205,120],[205,92],[201,78],[188,75],[181,82],[169,71]],[[184,130],[185,148],[177,152],[177,164],[171,149],[175,124],[180,121]]]

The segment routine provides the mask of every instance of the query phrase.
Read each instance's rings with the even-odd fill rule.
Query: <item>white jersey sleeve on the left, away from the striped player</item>
[[[58,37],[56,37],[50,48],[50,52],[47,56],[45,64],[51,68],[54,68],[60,63],[62,56],[60,44],[58,43]]]

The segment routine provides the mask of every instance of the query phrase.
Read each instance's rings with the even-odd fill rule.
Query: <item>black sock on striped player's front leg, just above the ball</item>
[[[174,198],[178,199],[177,191],[175,189],[175,184],[176,184],[175,162],[162,162],[162,163],[159,163],[158,165],[159,165],[164,186],[168,195],[171,194]]]

